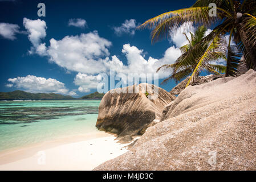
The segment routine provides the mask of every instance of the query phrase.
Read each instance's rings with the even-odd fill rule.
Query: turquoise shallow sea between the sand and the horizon
[[[100,100],[0,101],[0,151],[90,134]]]

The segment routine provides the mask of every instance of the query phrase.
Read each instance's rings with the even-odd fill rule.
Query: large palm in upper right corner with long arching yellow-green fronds
[[[217,5],[217,16],[209,16],[210,3]],[[221,35],[229,34],[227,50],[226,76],[237,76],[238,63],[246,63],[246,68],[256,69],[256,1],[255,0],[197,0],[189,8],[169,11],[156,16],[141,24],[139,28],[153,28],[151,38],[156,42],[169,36],[169,31],[176,31],[181,24],[193,22],[194,26],[204,24],[206,27],[215,26],[213,31],[198,42],[193,49],[198,49],[208,42],[208,48],[213,47],[216,39]],[[189,24],[188,24],[189,26]],[[234,37],[235,46],[231,46],[231,38]],[[192,50],[190,50],[192,51]],[[208,53],[198,61],[197,69],[202,69]],[[243,57],[243,61],[239,61]],[[192,77],[198,70],[195,69]]]

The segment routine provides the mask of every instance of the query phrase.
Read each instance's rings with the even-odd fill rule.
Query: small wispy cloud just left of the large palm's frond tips
[[[121,36],[123,34],[134,35],[136,27],[137,27],[136,20],[130,19],[130,20],[125,20],[120,27],[113,27],[113,29],[117,36]]]

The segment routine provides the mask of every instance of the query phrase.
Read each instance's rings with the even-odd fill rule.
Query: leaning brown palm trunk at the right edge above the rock
[[[248,43],[248,41],[246,39],[246,37],[247,37],[246,32],[242,28],[239,28],[239,36],[243,42],[243,45],[245,46],[246,51],[249,54],[250,61],[253,64],[252,65],[253,69],[256,69],[256,50],[255,50],[255,48],[250,46],[250,44]],[[250,69],[250,65],[249,65],[248,69]]]

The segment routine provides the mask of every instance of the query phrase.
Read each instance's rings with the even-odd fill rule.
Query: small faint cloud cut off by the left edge
[[[0,23],[0,35],[5,39],[16,39],[15,34],[19,34],[18,24]]]

